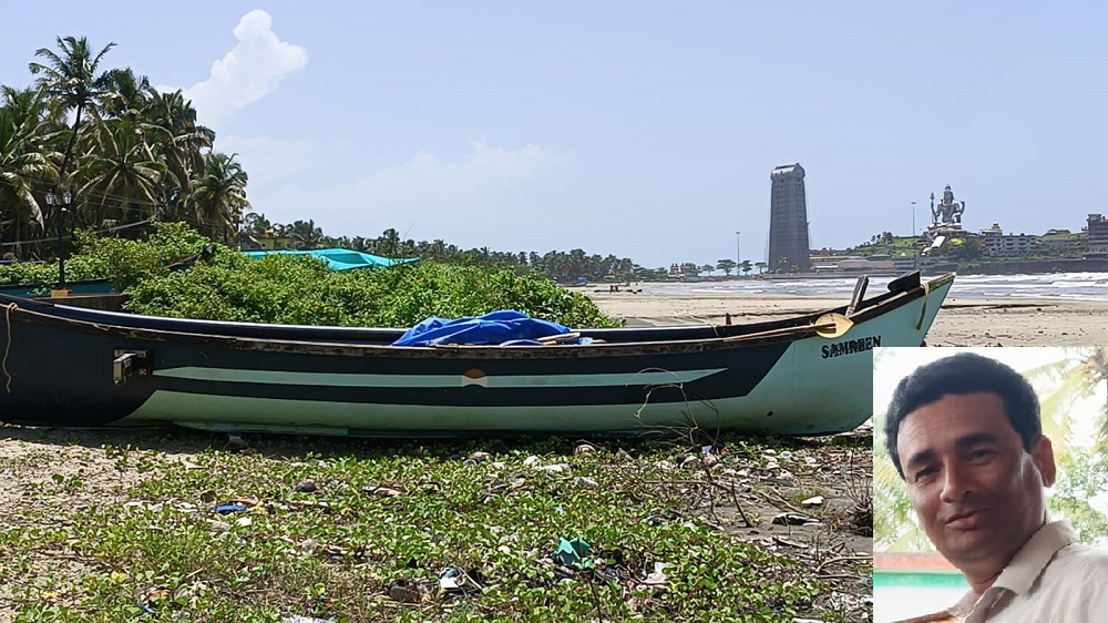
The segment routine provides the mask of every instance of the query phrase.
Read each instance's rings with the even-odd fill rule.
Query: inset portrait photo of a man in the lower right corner
[[[1108,348],[878,348],[874,622],[1108,621]]]

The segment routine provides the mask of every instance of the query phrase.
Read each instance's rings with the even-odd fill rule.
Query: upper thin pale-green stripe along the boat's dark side
[[[307,387],[464,387],[480,385],[488,388],[532,387],[626,387],[691,382],[724,371],[726,368],[706,370],[655,370],[598,375],[366,375],[343,372],[289,372],[279,370],[240,370],[234,368],[204,368],[188,366],[155,370],[155,376],[218,382],[250,382],[266,385],[294,385]]]

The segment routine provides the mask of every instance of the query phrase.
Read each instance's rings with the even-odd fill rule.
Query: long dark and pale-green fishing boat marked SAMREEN
[[[336,436],[851,430],[879,346],[920,346],[954,275],[766,323],[394,346],[406,331],[160,318],[0,295],[0,420]],[[588,341],[589,344],[579,344]]]

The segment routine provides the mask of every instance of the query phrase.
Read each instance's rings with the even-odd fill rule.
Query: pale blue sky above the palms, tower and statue
[[[770,172],[813,248],[930,222],[1079,231],[1108,213],[1108,4],[302,2],[4,7],[0,83],[58,37],[184,89],[255,212],[329,235],[766,259]],[[741,234],[736,234],[741,232]]]

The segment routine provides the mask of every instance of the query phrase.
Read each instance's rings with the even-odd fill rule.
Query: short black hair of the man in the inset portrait
[[[1043,435],[1039,400],[1030,382],[996,359],[960,353],[916,368],[896,385],[885,417],[885,448],[901,478],[904,478],[904,469],[896,453],[896,438],[904,418],[943,396],[978,392],[1001,397],[1012,428],[1023,439],[1024,450],[1030,452]]]

